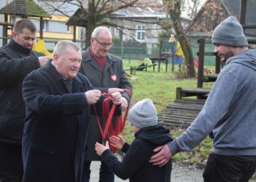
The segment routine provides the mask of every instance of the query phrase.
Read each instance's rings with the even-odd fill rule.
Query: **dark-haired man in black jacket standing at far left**
[[[31,50],[36,31],[31,20],[18,20],[12,40],[0,48],[0,181],[21,181],[23,175],[21,138],[25,105],[21,85],[27,74],[49,59]]]

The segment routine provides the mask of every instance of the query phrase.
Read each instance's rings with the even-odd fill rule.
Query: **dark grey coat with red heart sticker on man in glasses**
[[[108,88],[113,87],[132,91],[132,84],[130,84],[127,79],[122,60],[109,53],[106,58],[105,68],[102,70],[96,60],[91,56],[88,48],[83,52],[80,72],[88,77],[95,89],[99,89],[102,92],[108,92]],[[128,92],[123,92],[121,95],[129,102],[131,95],[129,95]],[[100,121],[102,122],[102,119],[100,119]],[[100,158],[94,148],[96,141],[102,143],[102,136],[100,135],[97,118],[95,116],[91,116],[89,128],[90,138],[88,141],[88,150],[86,150],[86,160],[99,160]]]

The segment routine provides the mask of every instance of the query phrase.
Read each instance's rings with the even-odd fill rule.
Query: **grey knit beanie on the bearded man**
[[[234,47],[248,46],[241,24],[236,17],[230,16],[217,25],[211,36],[213,44],[224,44]]]

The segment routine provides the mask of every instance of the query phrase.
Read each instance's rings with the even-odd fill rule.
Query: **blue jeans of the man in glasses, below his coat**
[[[83,163],[83,178],[82,182],[89,182],[90,181],[90,170],[91,161],[85,161]],[[105,165],[105,162],[101,161],[101,165],[99,168],[99,182],[114,182],[115,175],[112,171],[108,169]]]

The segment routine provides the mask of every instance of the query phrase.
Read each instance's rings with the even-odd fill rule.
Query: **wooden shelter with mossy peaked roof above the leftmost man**
[[[19,16],[22,18],[39,17],[40,39],[43,38],[43,17],[50,17],[50,15],[48,15],[42,7],[39,7],[34,0],[13,0],[10,4],[2,7],[0,13],[4,15],[4,23],[0,23],[0,25],[3,25],[3,45],[7,44],[7,31],[13,26],[13,23],[8,23],[8,15]]]

